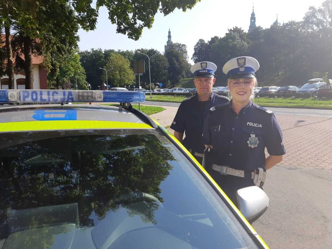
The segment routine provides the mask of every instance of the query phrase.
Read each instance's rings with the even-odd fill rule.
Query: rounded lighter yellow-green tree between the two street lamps
[[[113,87],[133,85],[135,80],[134,71],[130,68],[128,59],[124,58],[121,54],[111,54],[105,69],[111,69],[107,74],[109,85]],[[106,78],[105,71],[103,72],[103,75]]]

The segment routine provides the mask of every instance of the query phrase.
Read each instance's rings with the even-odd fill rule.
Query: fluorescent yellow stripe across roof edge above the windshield
[[[94,120],[23,121],[0,123],[0,132],[72,129],[151,129],[142,123]]]

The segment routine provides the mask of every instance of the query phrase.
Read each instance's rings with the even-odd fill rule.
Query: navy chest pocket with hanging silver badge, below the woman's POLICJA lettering
[[[245,126],[241,143],[249,152],[265,149],[264,131],[262,128]]]

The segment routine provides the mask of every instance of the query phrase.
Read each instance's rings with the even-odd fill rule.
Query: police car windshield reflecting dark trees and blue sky
[[[257,248],[160,131],[0,139],[4,248]]]

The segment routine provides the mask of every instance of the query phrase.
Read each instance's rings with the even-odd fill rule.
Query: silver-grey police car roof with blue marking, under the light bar
[[[156,128],[148,117],[135,109],[89,104],[2,105],[0,124],[26,121],[111,121],[117,126],[104,128]],[[42,123],[42,122],[39,122]],[[42,123],[47,126],[47,123]],[[87,127],[88,128],[88,127]],[[66,128],[65,128],[66,129]],[[70,129],[68,127],[68,129]],[[1,130],[0,131],[4,131]],[[9,131],[9,130],[8,130]],[[18,130],[17,130],[18,131]]]

